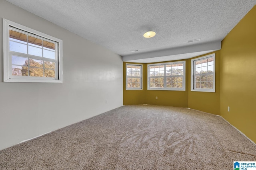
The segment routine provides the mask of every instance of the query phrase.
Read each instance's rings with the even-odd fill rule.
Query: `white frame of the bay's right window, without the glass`
[[[204,88],[196,88],[196,84],[195,84],[195,62],[196,61],[200,61],[200,60],[203,60],[203,59],[208,59],[208,58],[212,58],[213,57],[213,69],[214,69],[214,74],[213,74],[213,88],[212,89],[204,89]],[[194,91],[194,92],[212,92],[214,93],[215,92],[215,53],[213,54],[210,54],[210,55],[206,55],[206,56],[203,56],[203,57],[198,57],[196,59],[191,59],[191,91]],[[207,73],[205,73],[207,74]]]

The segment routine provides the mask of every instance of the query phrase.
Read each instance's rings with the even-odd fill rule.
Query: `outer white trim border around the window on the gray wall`
[[[52,41],[55,41],[58,43],[58,80],[47,80],[44,78],[37,77],[36,79],[33,79],[31,77],[29,78],[10,78],[10,57],[9,55],[9,26],[21,29],[23,31],[26,31],[28,33],[32,33],[35,35],[38,35],[40,37],[50,39]],[[3,19],[3,52],[4,52],[4,82],[44,82],[44,83],[62,83],[63,82],[63,62],[62,62],[62,40],[58,39],[56,37],[52,37],[50,35],[47,35],[45,33],[41,33],[39,31],[36,31],[34,29],[31,29],[29,27],[20,25],[18,23],[15,23],[13,21],[9,21],[6,19]]]

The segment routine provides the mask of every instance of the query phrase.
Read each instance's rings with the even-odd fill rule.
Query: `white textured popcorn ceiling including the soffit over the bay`
[[[7,1],[110,49],[123,61],[140,63],[188,59],[220,49],[222,39],[256,4],[256,0]],[[156,36],[144,38],[146,31],[155,31]],[[194,39],[201,40],[187,42]]]

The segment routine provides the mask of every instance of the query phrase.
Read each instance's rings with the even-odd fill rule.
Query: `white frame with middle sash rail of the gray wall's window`
[[[37,59],[36,57],[28,54],[17,53],[9,50],[9,29],[20,30],[20,32],[26,32],[27,35],[32,35],[33,37],[40,37],[40,39],[45,39],[46,41],[54,42],[58,48],[56,48],[56,66],[55,78],[49,77],[32,77],[32,76],[12,76],[12,55],[19,57],[31,57],[32,59]],[[63,82],[63,68],[62,68],[62,40],[41,33],[24,25],[20,25],[13,21],[3,19],[3,53],[4,53],[4,82],[44,82],[44,83],[62,83]],[[55,46],[56,47],[56,46]],[[40,60],[43,57],[38,58]]]

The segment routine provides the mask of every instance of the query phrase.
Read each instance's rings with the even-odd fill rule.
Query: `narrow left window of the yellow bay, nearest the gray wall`
[[[126,64],[126,90],[142,90],[142,64]]]

